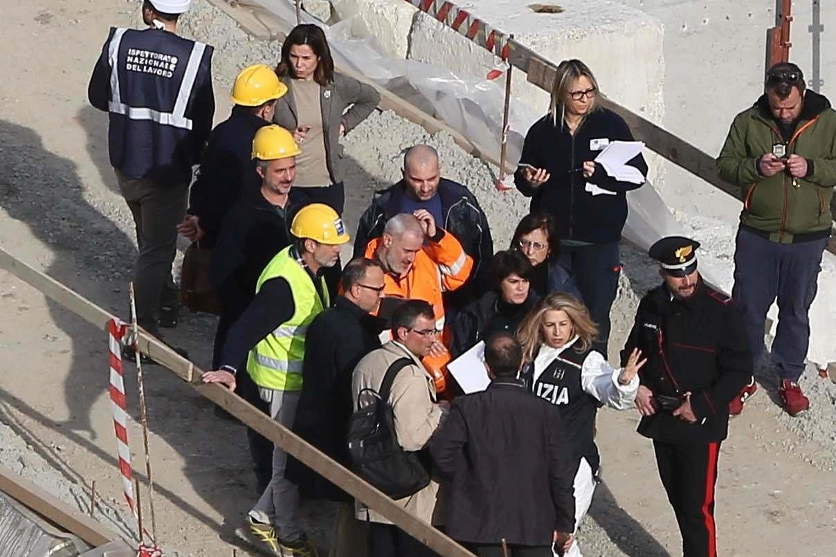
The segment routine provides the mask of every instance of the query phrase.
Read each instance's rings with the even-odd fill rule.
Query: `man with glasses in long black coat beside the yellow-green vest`
[[[371,259],[353,259],[343,269],[340,287],[343,294],[334,306],[308,326],[307,343],[312,350],[305,351],[293,432],[347,466],[346,428],[354,410],[351,376],[364,355],[380,348],[379,335],[385,329],[385,321],[372,315],[383,298],[383,268]],[[354,524],[351,495],[293,457],[288,457],[285,477],[304,498],[346,503],[337,516],[332,554],[351,554],[348,547],[363,545],[364,530]],[[339,553],[334,553],[336,545],[340,545]]]

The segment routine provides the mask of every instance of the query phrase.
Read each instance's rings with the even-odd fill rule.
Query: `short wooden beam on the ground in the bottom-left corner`
[[[94,547],[120,539],[104,524],[70,507],[5,466],[0,466],[0,491]]]

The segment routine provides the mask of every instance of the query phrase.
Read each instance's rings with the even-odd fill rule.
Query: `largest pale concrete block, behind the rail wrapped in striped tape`
[[[661,123],[664,29],[657,19],[609,0],[598,0],[594,6],[588,0],[561,0],[561,13],[535,13],[517,0],[469,0],[460,6],[503,33],[513,33],[555,64],[568,58],[584,60],[610,99]],[[410,59],[456,74],[485,78],[489,70],[501,67],[496,56],[425,13],[415,17],[409,42]],[[548,110],[548,93],[528,84],[523,72],[512,80],[512,95],[537,113]],[[648,159],[650,181],[658,183],[661,159]]]

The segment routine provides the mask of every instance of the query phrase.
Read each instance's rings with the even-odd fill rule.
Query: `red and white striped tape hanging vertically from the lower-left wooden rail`
[[[128,445],[128,404],[125,400],[125,376],[122,373],[122,345],[128,335],[130,325],[119,319],[110,319],[108,323],[108,345],[110,347],[110,409],[113,411],[113,427],[116,432],[116,450],[119,457],[119,472],[122,477],[122,489],[130,512],[136,516],[134,498],[134,473],[130,466],[130,446]],[[132,344],[132,343],[131,343]]]

